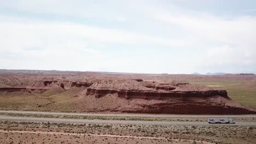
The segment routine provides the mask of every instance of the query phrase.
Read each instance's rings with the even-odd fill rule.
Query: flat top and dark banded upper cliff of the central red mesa
[[[229,99],[228,93],[221,89],[193,86],[189,83],[158,83],[137,80],[124,83],[95,83],[87,88],[86,94],[100,98],[113,93],[117,93],[119,98],[126,99],[187,99],[189,97],[207,98],[216,95]]]

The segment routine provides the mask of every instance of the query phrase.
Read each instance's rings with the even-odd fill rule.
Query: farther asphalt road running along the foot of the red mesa
[[[159,118],[256,118],[256,115],[171,115],[171,114],[142,114],[142,113],[66,113],[38,111],[3,111],[1,113],[40,114],[40,115],[69,115],[69,116],[103,116],[103,117],[159,117]]]

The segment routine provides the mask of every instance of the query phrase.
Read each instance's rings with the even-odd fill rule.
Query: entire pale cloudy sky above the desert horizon
[[[256,1],[0,1],[0,69],[256,73]]]

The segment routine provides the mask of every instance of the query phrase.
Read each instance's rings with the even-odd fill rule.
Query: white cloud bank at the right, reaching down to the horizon
[[[184,35],[194,35],[197,44],[203,45],[199,56],[191,59],[197,71],[256,71],[256,17],[155,10],[152,19],[181,28]]]

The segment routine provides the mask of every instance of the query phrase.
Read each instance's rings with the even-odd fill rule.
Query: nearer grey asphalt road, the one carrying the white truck
[[[54,122],[54,123],[106,123],[106,124],[144,124],[144,125],[256,125],[256,122],[237,122],[235,124],[209,124],[208,122],[159,122],[159,121],[113,121],[98,119],[64,119],[64,118],[37,118],[1,116],[0,120],[27,121],[27,122]]]

